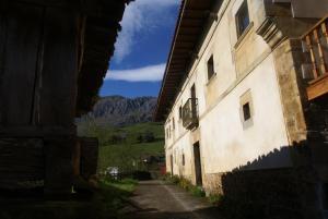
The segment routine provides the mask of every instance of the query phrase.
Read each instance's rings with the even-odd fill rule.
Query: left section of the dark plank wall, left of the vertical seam
[[[2,20],[5,28],[0,87],[2,125],[31,123],[42,16],[38,8],[16,7],[8,10]]]

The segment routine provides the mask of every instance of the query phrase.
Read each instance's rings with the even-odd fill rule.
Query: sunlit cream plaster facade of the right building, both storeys
[[[250,13],[254,1],[257,0],[249,0]],[[209,29],[199,59],[195,60],[167,118],[167,121],[175,118],[176,129],[174,136],[166,139],[166,154],[177,150],[180,159],[184,151],[186,159],[183,171],[180,161],[174,165],[175,174],[183,172],[186,178],[194,174],[194,133],[184,129],[178,120],[178,109],[190,98],[194,83],[199,102],[203,173],[231,171],[289,145],[273,58],[269,56],[268,45],[256,35],[254,28],[235,48],[234,5],[235,1],[224,1],[219,12],[220,20]],[[251,20],[254,16],[250,14]],[[207,60],[212,53],[216,75],[208,82]],[[239,72],[237,69],[241,69]],[[254,125],[243,130],[239,97],[248,89],[253,96]],[[270,156],[249,169],[290,166],[289,153],[285,151],[277,153],[279,156]]]

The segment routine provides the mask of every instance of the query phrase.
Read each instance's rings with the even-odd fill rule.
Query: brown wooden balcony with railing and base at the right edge
[[[328,16],[306,33],[302,41],[304,52],[311,57],[303,74],[308,78],[308,100],[313,100],[328,94]]]

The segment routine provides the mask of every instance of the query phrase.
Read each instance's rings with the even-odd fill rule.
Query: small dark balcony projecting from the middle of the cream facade
[[[183,107],[183,125],[187,130],[198,126],[198,99],[189,98]]]

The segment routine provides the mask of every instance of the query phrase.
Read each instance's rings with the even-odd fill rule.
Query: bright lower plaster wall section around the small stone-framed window
[[[244,130],[239,97],[251,90],[254,124]],[[274,65],[270,56],[200,120],[201,148],[206,173],[231,171],[259,156],[289,146]],[[256,167],[290,166],[289,155],[277,153]]]

